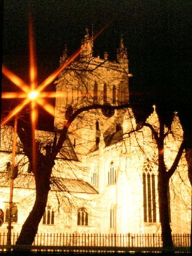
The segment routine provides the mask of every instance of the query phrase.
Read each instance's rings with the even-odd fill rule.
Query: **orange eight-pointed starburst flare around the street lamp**
[[[109,25],[109,24],[108,24]],[[99,33],[97,33],[93,38],[90,39],[92,42],[96,37],[98,37],[102,31],[108,26],[103,27]],[[87,44],[83,47],[85,48]],[[31,17],[29,17],[29,85],[27,85],[20,77],[12,73],[9,69],[7,69],[4,65],[2,66],[3,74],[10,79],[12,83],[17,85],[19,89],[23,92],[6,92],[2,94],[2,98],[11,99],[11,98],[26,98],[24,99],[17,107],[15,107],[8,116],[6,116],[1,125],[6,124],[10,121],[10,119],[17,115],[29,102],[31,102],[31,128],[32,128],[32,157],[33,157],[33,171],[35,173],[36,170],[36,143],[35,143],[35,129],[36,122],[38,117],[37,111],[37,103],[42,106],[48,113],[54,116],[54,107],[51,106],[48,102],[46,102],[43,98],[56,98],[56,97],[66,97],[64,93],[55,93],[55,92],[42,92],[45,87],[47,87],[53,80],[63,71],[71,62],[73,62],[78,55],[81,53],[82,49],[79,48],[67,62],[63,63],[61,67],[55,70],[50,76],[48,76],[43,83],[37,86],[37,67],[35,60],[35,42],[34,42],[34,34],[33,34],[33,22]]]

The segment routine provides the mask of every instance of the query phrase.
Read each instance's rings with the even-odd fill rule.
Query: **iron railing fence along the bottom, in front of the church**
[[[11,245],[15,245],[19,234],[12,233]],[[174,247],[178,249],[190,247],[190,234],[172,234]],[[162,236],[161,234],[52,234],[41,233],[37,234],[32,246],[32,250],[57,250],[63,251],[69,249],[83,249],[94,248],[98,251],[98,248],[112,248],[115,249],[127,249],[140,248],[147,250],[162,248]],[[52,249],[51,249],[52,248]],[[53,249],[54,248],[54,249]],[[7,249],[7,233],[0,233],[0,250]],[[111,249],[111,250],[112,250]],[[130,250],[128,250],[130,249]]]

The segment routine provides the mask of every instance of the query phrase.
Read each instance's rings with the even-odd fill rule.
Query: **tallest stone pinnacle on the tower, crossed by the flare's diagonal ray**
[[[82,45],[81,45],[81,58],[92,57],[92,52],[93,52],[92,38],[90,38],[89,30],[88,28],[86,28],[85,37],[83,38]]]

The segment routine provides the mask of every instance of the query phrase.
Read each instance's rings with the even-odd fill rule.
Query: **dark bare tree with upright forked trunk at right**
[[[167,248],[173,247],[173,241],[171,236],[171,227],[170,227],[170,217],[169,217],[169,181],[172,177],[173,173],[177,170],[177,166],[181,159],[183,150],[185,148],[185,141],[183,140],[182,134],[180,138],[177,138],[177,141],[180,143],[177,155],[173,159],[172,165],[167,167],[165,164],[165,140],[169,136],[169,134],[173,134],[171,129],[171,124],[174,117],[174,112],[169,107],[163,107],[162,105],[156,105],[156,111],[158,116],[158,122],[155,124],[150,124],[146,122],[145,113],[138,114],[138,110],[142,110],[139,108],[135,108],[135,116],[138,118],[138,123],[140,126],[148,127],[155,139],[156,147],[158,150],[158,202],[159,202],[159,218],[161,222],[162,228],[162,239],[163,246]],[[134,107],[133,107],[134,110]],[[181,132],[181,131],[180,131]]]

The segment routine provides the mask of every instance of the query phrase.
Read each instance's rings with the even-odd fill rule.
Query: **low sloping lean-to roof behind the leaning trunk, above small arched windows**
[[[6,172],[0,172],[1,187],[10,187],[10,180],[7,179]],[[35,189],[35,179],[33,174],[18,174],[14,179],[14,188]],[[67,191],[69,193],[98,194],[88,182],[82,179],[66,179],[51,177],[52,191]]]

